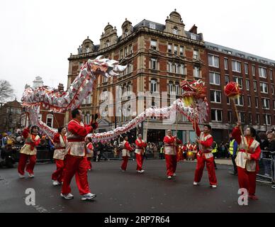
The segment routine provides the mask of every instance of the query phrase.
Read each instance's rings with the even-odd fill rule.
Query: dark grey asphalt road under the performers
[[[228,160],[229,161],[229,160]],[[218,160],[217,160],[217,163]],[[218,188],[211,189],[208,174],[198,187],[193,187],[196,162],[179,162],[176,177],[166,176],[164,160],[145,160],[144,174],[135,171],[136,163],[130,160],[128,171],[120,172],[121,161],[92,162],[89,171],[94,201],[81,201],[75,180],[72,179],[74,199],[60,197],[61,187],[52,186],[51,174],[55,164],[37,164],[35,178],[19,179],[16,168],[0,169],[0,212],[31,213],[182,213],[182,212],[274,212],[275,190],[270,184],[257,182],[258,201],[240,206],[237,199],[237,177],[228,172],[228,165],[218,164]],[[35,189],[35,205],[26,205],[26,189]]]

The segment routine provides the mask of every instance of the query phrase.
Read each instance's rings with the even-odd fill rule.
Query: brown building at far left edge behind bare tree
[[[0,132],[16,133],[21,128],[21,103],[9,101],[0,107]]]

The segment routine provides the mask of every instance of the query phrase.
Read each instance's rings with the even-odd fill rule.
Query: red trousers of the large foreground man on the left
[[[87,194],[90,192],[87,179],[87,160],[86,157],[74,157],[72,155],[66,155],[64,159],[63,170],[63,185],[62,194],[69,194],[71,192],[72,177],[75,175],[75,181],[79,189],[79,194]]]

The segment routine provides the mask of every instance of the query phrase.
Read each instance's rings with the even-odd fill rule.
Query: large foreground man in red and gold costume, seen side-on
[[[87,179],[85,137],[94,131],[98,124],[96,121],[93,122],[92,119],[90,125],[84,125],[84,123],[82,123],[82,118],[82,111],[80,109],[74,109],[72,111],[72,121],[69,121],[68,123],[68,143],[66,145],[66,156],[64,159],[62,193],[60,194],[64,199],[74,198],[70,193],[71,188],[69,187],[74,175],[79,194],[81,194],[81,199],[91,200],[96,197],[96,194],[91,194]]]

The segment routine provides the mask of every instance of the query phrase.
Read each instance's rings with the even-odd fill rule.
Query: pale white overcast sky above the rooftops
[[[0,79],[21,99],[37,76],[44,85],[67,87],[70,53],[89,35],[94,44],[107,23],[118,28],[128,18],[165,23],[178,11],[188,31],[195,23],[204,40],[275,60],[275,1],[270,0],[1,0]]]

